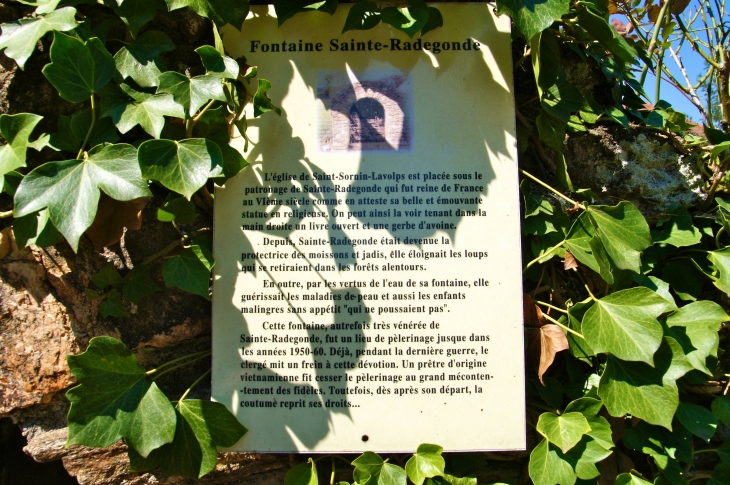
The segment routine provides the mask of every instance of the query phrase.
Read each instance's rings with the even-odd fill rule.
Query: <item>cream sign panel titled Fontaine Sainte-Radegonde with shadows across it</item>
[[[525,449],[509,19],[349,8],[224,30],[282,115],[216,191],[213,398],[241,451]]]

